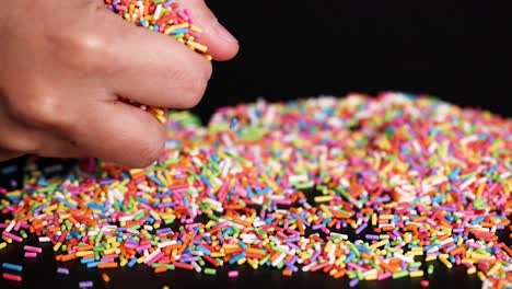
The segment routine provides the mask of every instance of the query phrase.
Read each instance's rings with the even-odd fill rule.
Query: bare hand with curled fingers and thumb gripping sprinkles
[[[236,55],[236,39],[202,0],[179,4],[216,60]],[[202,56],[125,22],[103,0],[5,1],[0,44],[0,161],[33,153],[147,166],[163,152],[165,126],[118,95],[189,108],[212,73]]]

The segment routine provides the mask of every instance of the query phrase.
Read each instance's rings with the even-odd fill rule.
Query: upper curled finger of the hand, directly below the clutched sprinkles
[[[189,108],[205,93],[211,63],[170,36],[136,27],[109,11],[105,18],[108,62],[105,80],[117,95],[142,104]]]

